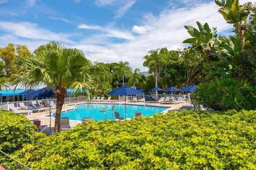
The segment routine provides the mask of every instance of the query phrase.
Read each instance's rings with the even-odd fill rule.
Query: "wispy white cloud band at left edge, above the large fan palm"
[[[54,33],[54,32],[48,31],[46,29],[40,28],[36,23],[0,22],[0,29],[2,31],[5,31],[6,34],[10,34],[20,38],[31,39],[31,41],[33,40],[60,41],[60,39],[62,39],[67,43],[74,43],[73,41],[70,41],[68,39],[68,37],[71,35],[66,35],[64,33]]]

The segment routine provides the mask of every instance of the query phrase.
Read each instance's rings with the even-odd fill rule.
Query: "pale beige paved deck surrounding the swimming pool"
[[[62,111],[68,111],[70,109],[74,109],[74,107],[71,107],[71,105],[76,105],[76,104],[87,104],[85,102],[79,102],[79,103],[72,103],[72,104],[64,104],[62,107]],[[92,104],[95,104],[95,102],[93,102]],[[120,102],[97,102],[97,104],[124,104],[124,101],[120,101]],[[133,104],[133,105],[146,105],[146,103],[144,102],[126,102],[126,104]],[[185,103],[188,104],[188,103]],[[167,113],[168,110],[171,109],[178,109],[180,108],[182,105],[184,105],[184,103],[180,103],[180,104],[159,104],[159,103],[148,103],[148,106],[162,106],[162,107],[170,107],[169,109],[166,109],[164,111],[164,113]],[[56,109],[53,109],[53,112],[55,112]],[[44,111],[44,112],[36,112],[36,113],[32,113],[30,115],[26,115],[26,117],[28,119],[39,119],[41,121],[44,122],[44,125],[48,125],[48,129],[46,129],[47,131],[50,131],[50,117],[46,117],[45,115],[49,115],[49,111]],[[54,131],[54,121],[55,118],[51,117],[51,129],[52,131]],[[70,124],[72,125],[74,123],[74,126],[78,125],[80,123],[80,121],[73,121],[70,120]],[[42,125],[42,123],[41,123]]]

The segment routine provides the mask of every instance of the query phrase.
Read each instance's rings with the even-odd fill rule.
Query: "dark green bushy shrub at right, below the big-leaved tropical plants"
[[[211,82],[201,83],[197,87],[192,97],[196,103],[202,101],[205,106],[222,111],[256,109],[256,87],[246,81],[221,77]]]

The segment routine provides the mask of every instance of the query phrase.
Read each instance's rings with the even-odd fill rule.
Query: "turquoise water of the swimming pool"
[[[81,104],[76,105],[78,109],[61,113],[61,117],[69,117],[71,120],[81,121],[82,117],[94,117],[94,121],[100,121],[106,119],[106,114],[102,111],[103,107],[106,107],[107,119],[112,119],[112,106],[115,106],[117,112],[121,117],[125,117],[124,105],[119,104]],[[142,115],[152,116],[153,113],[161,113],[169,107],[152,107],[152,106],[138,106],[138,105],[126,105],[126,117],[131,118],[134,116],[134,112],[142,111]]]

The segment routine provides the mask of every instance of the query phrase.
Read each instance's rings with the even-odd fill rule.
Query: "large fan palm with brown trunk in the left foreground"
[[[96,91],[97,78],[94,76],[96,65],[92,65],[79,49],[68,49],[50,42],[52,48],[35,55],[33,58],[24,55],[17,59],[20,65],[18,74],[13,74],[12,84],[21,83],[27,88],[34,88],[39,84],[46,84],[56,88],[54,94],[57,99],[54,132],[60,132],[60,114],[67,94],[67,88],[87,90],[90,98]]]

